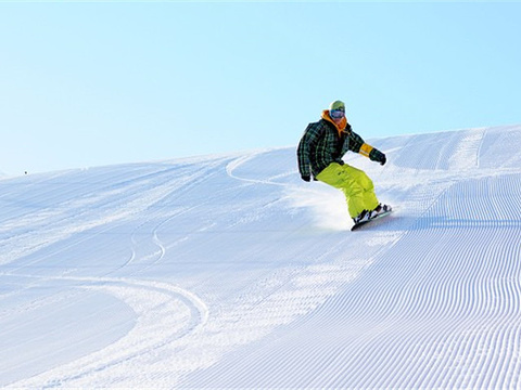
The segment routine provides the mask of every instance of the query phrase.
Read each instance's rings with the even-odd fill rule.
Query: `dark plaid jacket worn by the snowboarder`
[[[361,153],[360,148],[365,145],[361,136],[352,130],[350,123],[339,134],[336,127],[322,118],[318,122],[309,123],[302,135],[296,151],[298,171],[303,177],[312,173],[316,177],[331,162],[344,164],[342,157],[347,151]]]

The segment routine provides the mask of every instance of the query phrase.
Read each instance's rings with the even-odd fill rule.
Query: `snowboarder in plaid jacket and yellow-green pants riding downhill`
[[[334,101],[322,112],[319,121],[309,123],[298,143],[298,171],[302,180],[321,181],[341,190],[355,224],[366,222],[391,210],[374,194],[372,180],[363,171],[342,160],[347,151],[359,153],[372,161],[385,164],[385,155],[365,143],[353,131],[345,117],[345,105]]]

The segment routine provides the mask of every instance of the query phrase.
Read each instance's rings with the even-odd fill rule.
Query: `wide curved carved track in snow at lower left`
[[[125,375],[129,367],[132,367],[134,375],[138,375],[142,370],[140,361],[143,356],[153,355],[155,351],[198,332],[208,318],[208,310],[199,297],[166,283],[65,276],[56,281],[78,283],[79,288],[120,299],[136,313],[136,324],[116,342],[28,380],[15,382],[14,388],[86,386],[99,378],[104,378],[105,386],[111,386],[111,377]]]

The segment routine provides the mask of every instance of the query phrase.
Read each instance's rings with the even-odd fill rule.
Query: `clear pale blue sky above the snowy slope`
[[[519,2],[0,2],[0,171],[296,145],[336,99],[365,139],[520,123],[520,21]]]

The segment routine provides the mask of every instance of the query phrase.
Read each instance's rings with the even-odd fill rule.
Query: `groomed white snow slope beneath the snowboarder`
[[[0,387],[520,388],[521,127],[0,180]]]

